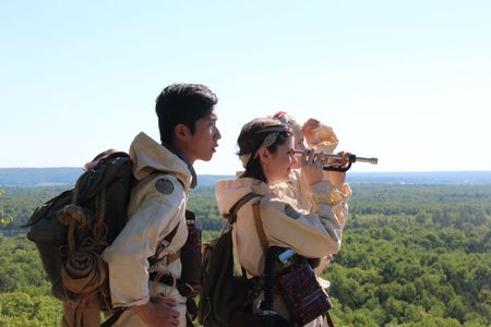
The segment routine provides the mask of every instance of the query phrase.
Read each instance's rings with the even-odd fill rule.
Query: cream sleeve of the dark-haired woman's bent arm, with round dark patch
[[[278,198],[261,202],[261,219],[272,245],[287,246],[306,257],[323,257],[340,249],[344,216],[338,217],[342,198],[328,181],[311,187],[311,213],[297,211]],[[327,196],[326,196],[327,194]]]

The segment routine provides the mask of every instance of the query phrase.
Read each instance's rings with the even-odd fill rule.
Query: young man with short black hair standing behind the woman
[[[113,326],[185,326],[179,250],[188,237],[188,191],[196,184],[192,165],[212,159],[221,137],[216,102],[204,85],[170,85],[156,100],[161,144],[144,133],[131,144],[130,220],[103,253],[112,305],[129,308]]]

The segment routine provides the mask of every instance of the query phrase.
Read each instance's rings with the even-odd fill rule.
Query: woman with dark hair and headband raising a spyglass
[[[321,258],[338,252],[347,215],[347,196],[323,179],[322,157],[306,150],[297,159],[289,128],[268,118],[247,123],[238,145],[246,171],[236,180],[217,183],[216,198],[220,213],[228,214],[246,194],[259,193],[262,195],[259,216],[268,246],[292,249],[307,258]],[[276,192],[274,187],[289,180],[297,164],[300,164],[309,187],[312,203],[310,210],[298,208],[295,198]],[[238,263],[249,278],[260,277],[265,263],[265,252],[254,223],[253,203],[251,201],[238,210],[232,229]],[[254,300],[254,304],[259,306],[260,301],[261,295]],[[278,296],[275,298],[274,307],[286,318],[292,314]],[[323,323],[324,318],[320,316],[306,326],[323,326]]]

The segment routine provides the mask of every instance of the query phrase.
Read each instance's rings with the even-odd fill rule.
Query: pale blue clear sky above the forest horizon
[[[0,168],[81,167],[158,140],[172,83],[217,94],[200,174],[240,169],[244,123],[333,126],[351,171],[491,170],[491,1],[0,1]]]

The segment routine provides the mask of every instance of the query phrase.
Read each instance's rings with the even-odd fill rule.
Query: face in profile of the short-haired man
[[[196,121],[194,134],[190,136],[187,150],[188,160],[191,162],[212,159],[215,148],[218,146],[218,140],[221,138],[221,134],[216,126],[217,119],[215,110],[212,110],[209,114]]]

